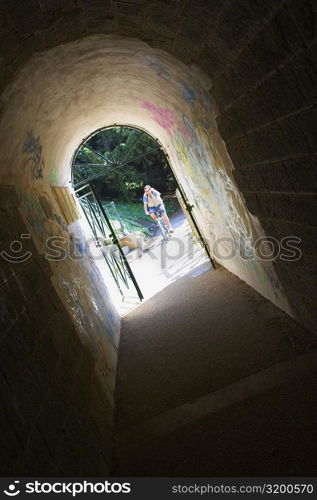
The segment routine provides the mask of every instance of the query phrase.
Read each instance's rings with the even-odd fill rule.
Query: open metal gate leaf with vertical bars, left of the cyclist
[[[133,287],[142,301],[142,292],[120,245],[116,229],[97,198],[93,186],[87,183],[76,189],[75,193],[92,231],[96,246],[101,250],[122,300]],[[111,239],[111,243],[105,244],[109,239]]]

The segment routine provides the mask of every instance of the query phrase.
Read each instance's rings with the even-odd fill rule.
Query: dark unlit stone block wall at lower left
[[[1,187],[1,474],[108,475],[109,395],[51,283],[48,262],[32,239],[21,239],[28,229],[17,205],[15,190]],[[23,251],[14,253],[13,241]],[[4,251],[32,257],[8,262]]]

